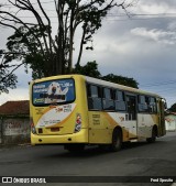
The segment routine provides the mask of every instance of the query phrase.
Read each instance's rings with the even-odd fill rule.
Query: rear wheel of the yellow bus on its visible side
[[[122,132],[119,129],[113,130],[112,133],[112,143],[110,144],[109,149],[111,152],[117,152],[122,146]]]

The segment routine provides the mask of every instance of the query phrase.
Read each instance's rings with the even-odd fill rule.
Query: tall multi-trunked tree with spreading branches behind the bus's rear
[[[0,7],[0,25],[13,29],[14,34],[9,37],[8,51],[12,54],[11,59],[19,59],[23,64],[30,64],[34,70],[34,77],[68,74],[73,67],[74,41],[77,28],[82,29],[80,35],[80,48],[78,52],[77,65],[80,65],[82,47],[92,50],[88,43],[92,41],[92,35],[101,26],[102,19],[113,7],[127,9],[131,3],[125,0],[53,0],[57,17],[56,34],[53,33],[53,24],[47,10],[42,1],[36,0],[7,0],[13,11],[6,9],[6,4]],[[131,0],[133,1],[133,0]],[[20,18],[31,13],[35,21],[26,22]]]

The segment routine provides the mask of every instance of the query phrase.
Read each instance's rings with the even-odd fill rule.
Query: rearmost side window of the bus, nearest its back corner
[[[88,96],[88,109],[89,110],[101,110],[102,109],[100,87],[96,85],[88,85],[87,96]]]

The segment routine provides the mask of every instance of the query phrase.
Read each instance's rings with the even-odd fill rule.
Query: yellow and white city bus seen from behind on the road
[[[166,133],[165,106],[156,94],[82,75],[37,79],[30,84],[31,143],[118,151],[122,142],[155,142]]]

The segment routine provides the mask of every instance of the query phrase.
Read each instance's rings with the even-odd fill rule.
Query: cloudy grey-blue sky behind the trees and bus
[[[55,23],[52,2],[45,2]],[[120,9],[108,13],[94,36],[95,50],[84,51],[81,65],[96,61],[102,75],[112,73],[132,77],[140,89],[161,95],[170,107],[176,102],[176,1],[139,0],[127,10],[128,15]],[[4,47],[10,34],[10,30],[0,28],[0,48]],[[74,61],[79,39],[80,30],[75,35]],[[23,67],[15,74],[16,89],[1,94],[0,105],[8,100],[29,99],[31,74],[25,74]]]

